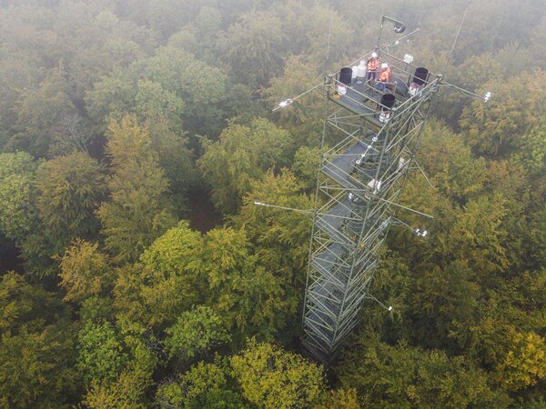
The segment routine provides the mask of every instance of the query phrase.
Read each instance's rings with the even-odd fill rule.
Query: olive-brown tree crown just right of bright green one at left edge
[[[28,162],[25,167],[29,166],[35,167]],[[85,153],[56,156],[40,163],[35,173],[6,177],[5,193],[12,188],[17,192],[10,192],[6,198],[12,217],[8,228],[20,230],[12,238],[21,247],[28,273],[56,274],[53,258],[71,240],[96,238],[95,212],[106,194],[105,175],[103,166]]]

